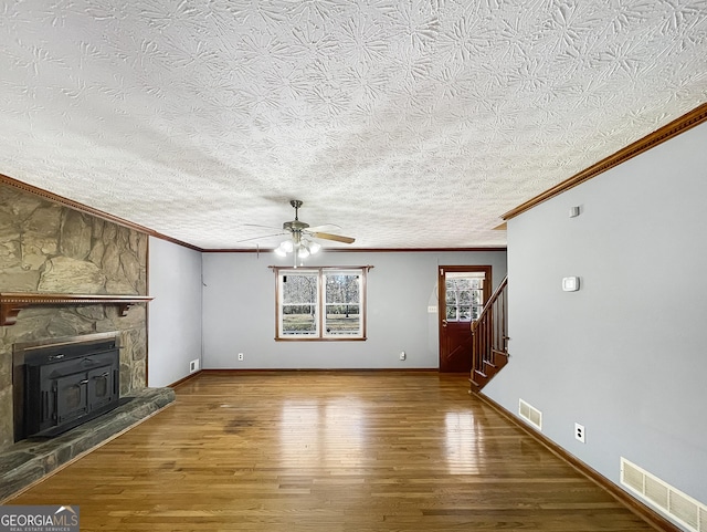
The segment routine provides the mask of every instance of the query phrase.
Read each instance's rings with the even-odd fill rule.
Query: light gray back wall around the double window
[[[496,285],[506,252],[325,250],[308,259],[306,265],[374,267],[365,342],[275,342],[275,274],[267,267],[288,264],[273,253],[203,254],[204,368],[436,368],[437,314],[428,306],[436,304],[437,264],[492,264]]]

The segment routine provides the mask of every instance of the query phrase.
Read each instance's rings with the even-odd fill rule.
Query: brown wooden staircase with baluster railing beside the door
[[[508,275],[472,322],[472,383],[478,393],[508,363]]]

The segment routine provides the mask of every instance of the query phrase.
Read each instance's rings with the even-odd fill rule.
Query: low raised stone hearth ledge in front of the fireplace
[[[56,438],[30,438],[0,451],[0,503],[165,408],[175,400],[175,390],[143,388],[129,398],[128,403]]]

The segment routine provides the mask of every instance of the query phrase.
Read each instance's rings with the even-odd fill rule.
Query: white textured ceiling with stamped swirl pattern
[[[358,248],[503,246],[706,73],[705,0],[9,0],[0,173],[205,249],[293,198]]]

